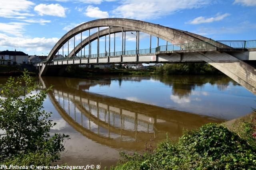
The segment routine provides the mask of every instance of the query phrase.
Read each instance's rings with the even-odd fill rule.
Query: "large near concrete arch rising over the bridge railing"
[[[50,51],[46,60],[52,61],[54,55],[58,52],[58,50],[62,47],[62,45],[66,43],[69,39],[77,35],[78,33],[81,33],[83,31],[86,31],[92,28],[105,27],[105,26],[124,27],[133,31],[141,31],[141,32],[153,35],[155,37],[164,39],[168,42],[171,42],[172,44],[212,41],[212,39],[208,39],[201,35],[190,33],[187,31],[182,31],[179,29],[164,27],[162,25],[149,23],[145,21],[124,19],[124,18],[105,18],[105,19],[93,20],[93,21],[83,23],[71,29],[70,31],[68,31],[68,33],[66,33],[54,45],[54,47]]]

